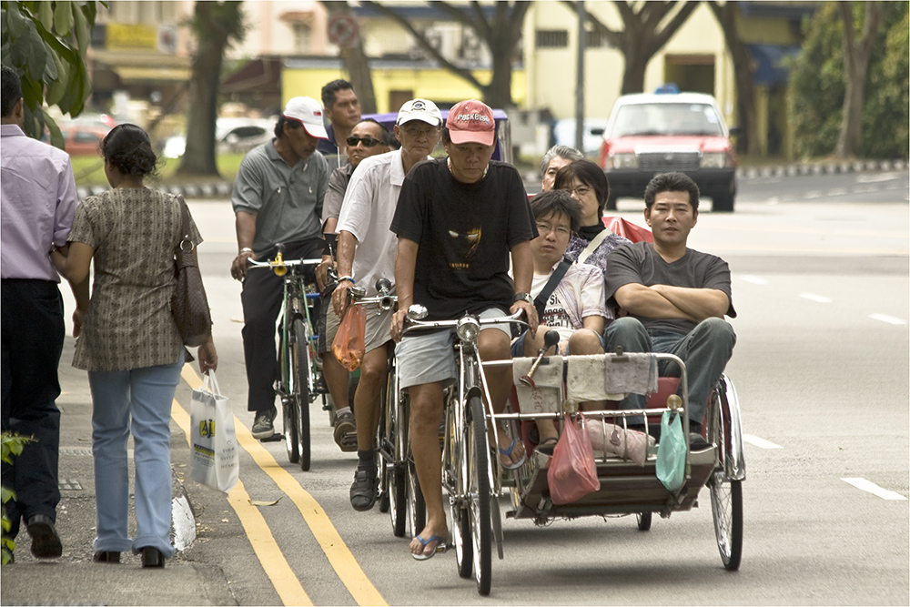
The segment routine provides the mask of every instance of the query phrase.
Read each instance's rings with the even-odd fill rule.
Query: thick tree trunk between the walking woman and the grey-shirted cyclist
[[[197,37],[189,82],[187,149],[177,173],[218,175],[215,163],[218,83],[227,46],[247,33],[239,0],[198,1],[190,25]]]

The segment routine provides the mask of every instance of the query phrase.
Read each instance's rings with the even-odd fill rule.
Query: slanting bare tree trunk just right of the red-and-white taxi
[[[728,0],[723,5],[709,0],[714,18],[721,25],[723,40],[726,42],[730,56],[733,58],[733,76],[736,81],[736,99],[739,106],[740,125],[745,137],[745,153],[760,156],[761,142],[758,140],[758,118],[755,112],[755,67],[748,47],[736,27],[736,15],[740,13],[738,2]]]

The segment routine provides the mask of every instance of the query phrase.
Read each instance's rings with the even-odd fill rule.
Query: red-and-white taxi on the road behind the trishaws
[[[733,211],[736,154],[731,131],[713,96],[678,93],[624,95],[603,131],[600,163],[610,181],[608,206],[618,197],[642,199],[658,173],[682,171],[695,180],[714,211]]]

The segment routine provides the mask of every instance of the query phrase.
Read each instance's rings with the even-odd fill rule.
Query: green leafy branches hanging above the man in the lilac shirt
[[[95,26],[97,5],[106,2],[0,2],[0,56],[22,78],[25,134],[63,148],[63,136],[44,104],[78,116],[92,94],[86,50]]]

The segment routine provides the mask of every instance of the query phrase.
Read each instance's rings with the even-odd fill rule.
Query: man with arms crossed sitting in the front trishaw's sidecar
[[[722,258],[687,248],[698,220],[698,186],[683,173],[662,173],[644,190],[644,220],[653,244],[614,248],[607,257],[607,298],[629,316],[607,327],[607,349],[669,352],[689,373],[689,429],[694,450],[706,446],[702,419],[708,395],[733,355],[736,334],[723,316],[736,318],[730,268]],[[672,363],[662,363],[663,373]],[[644,397],[622,400],[644,409]]]

